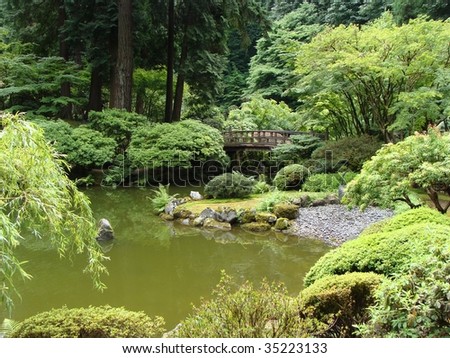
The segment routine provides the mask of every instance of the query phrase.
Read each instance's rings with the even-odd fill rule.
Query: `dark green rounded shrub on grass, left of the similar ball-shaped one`
[[[252,193],[253,180],[238,172],[213,178],[205,186],[205,195],[213,198],[245,198]]]

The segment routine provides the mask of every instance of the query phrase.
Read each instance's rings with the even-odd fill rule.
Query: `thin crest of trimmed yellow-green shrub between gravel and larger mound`
[[[442,215],[437,210],[420,207],[417,209],[411,209],[396,215],[392,218],[382,220],[375,224],[372,224],[368,228],[366,228],[361,235],[370,235],[376,234],[380,232],[390,232],[399,230],[405,226],[414,225],[414,224],[426,224],[426,223],[434,223],[440,225],[450,226],[450,217],[446,215]]]

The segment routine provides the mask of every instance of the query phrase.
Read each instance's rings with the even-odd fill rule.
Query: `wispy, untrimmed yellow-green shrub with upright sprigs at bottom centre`
[[[212,299],[194,307],[175,336],[282,338],[296,337],[298,332],[298,304],[283,285],[263,281],[259,289],[254,289],[247,281],[234,290],[231,278],[222,274]]]

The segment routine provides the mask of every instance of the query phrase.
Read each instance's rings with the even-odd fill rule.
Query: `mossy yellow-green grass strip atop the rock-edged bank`
[[[325,198],[330,193],[305,193],[301,191],[283,191],[282,192],[287,200],[299,198],[303,195],[309,195],[312,200]],[[268,198],[272,192],[264,194],[253,194],[245,199],[203,199],[196,201],[189,201],[182,206],[191,211],[193,214],[200,214],[206,208],[218,210],[220,207],[228,207],[233,210],[250,210],[256,209],[261,202]]]

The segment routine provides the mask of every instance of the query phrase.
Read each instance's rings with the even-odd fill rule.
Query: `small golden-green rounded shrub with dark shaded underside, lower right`
[[[367,308],[383,276],[353,272],[326,276],[300,293],[300,317],[314,337],[352,337],[354,324],[364,323]]]

